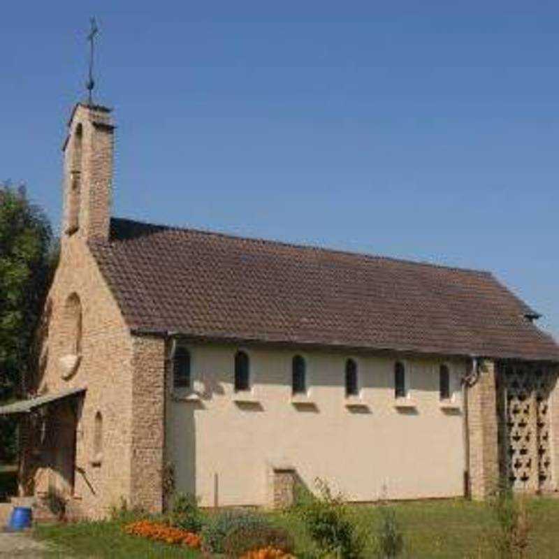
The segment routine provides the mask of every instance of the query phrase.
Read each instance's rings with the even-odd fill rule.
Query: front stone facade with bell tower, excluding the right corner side
[[[34,382],[39,393],[87,389],[77,406],[75,484],[70,504],[72,510],[80,509],[92,517],[105,516],[122,499],[129,502],[132,488],[133,342],[87,247],[90,238],[108,238],[112,136],[108,109],[75,106],[64,144],[61,257],[43,314],[41,370]],[[57,406],[51,405],[53,424],[57,413]],[[25,467],[34,487],[22,487],[37,494],[52,486],[72,493],[68,483],[72,453],[68,449],[57,452],[57,433],[41,435],[48,424],[41,427],[40,423],[32,437],[35,450],[41,450],[43,437],[50,441],[51,451],[45,448],[31,453],[34,458],[26,460]],[[101,430],[97,444],[96,426]],[[29,453],[25,456],[29,458]]]

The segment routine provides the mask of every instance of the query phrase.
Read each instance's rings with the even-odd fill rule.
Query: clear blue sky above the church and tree
[[[557,2],[141,4],[2,6],[0,177],[55,224],[94,14],[115,215],[489,269],[559,336]]]

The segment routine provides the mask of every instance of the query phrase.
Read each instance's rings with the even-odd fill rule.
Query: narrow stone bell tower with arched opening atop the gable
[[[64,238],[108,239],[113,131],[110,109],[78,103],[64,152]]]

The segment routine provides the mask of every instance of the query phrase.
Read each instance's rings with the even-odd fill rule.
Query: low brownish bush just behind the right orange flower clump
[[[248,551],[263,549],[264,547],[281,549],[284,553],[293,553],[293,537],[283,528],[261,525],[256,528],[238,526],[233,528],[224,539],[224,553],[227,557],[238,558]]]

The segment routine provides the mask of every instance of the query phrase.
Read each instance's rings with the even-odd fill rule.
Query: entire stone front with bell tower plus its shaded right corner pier
[[[30,448],[20,491],[56,488],[74,514],[93,518],[122,500],[162,507],[164,340],[131,335],[87,247],[109,234],[113,129],[110,110],[75,106],[63,148],[61,257],[43,314],[40,371],[29,387],[87,389],[73,406],[75,467],[73,422],[64,440],[52,428],[64,405],[43,410],[22,437]]]

